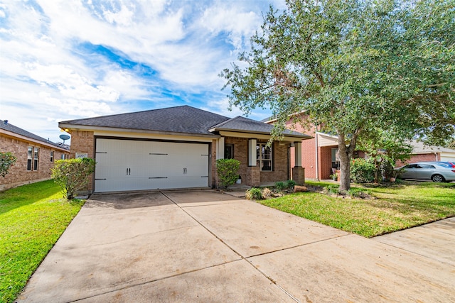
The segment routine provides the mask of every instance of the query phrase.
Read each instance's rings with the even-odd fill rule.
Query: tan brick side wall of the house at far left
[[[39,148],[38,170],[27,170],[27,152],[29,146]],[[0,151],[3,153],[13,153],[17,158],[16,163],[9,169],[8,175],[6,177],[0,177],[0,190],[49,180],[50,168],[53,167],[55,160],[59,160],[61,155],[65,153],[48,145],[4,135],[0,135]],[[54,152],[53,162],[50,162],[51,151]]]

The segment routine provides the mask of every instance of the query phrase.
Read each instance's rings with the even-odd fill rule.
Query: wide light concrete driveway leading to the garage
[[[93,195],[18,302],[455,302],[455,219],[429,226],[367,239],[213,191]]]

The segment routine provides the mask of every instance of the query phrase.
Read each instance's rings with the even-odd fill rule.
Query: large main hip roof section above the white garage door
[[[166,109],[152,109],[127,114],[62,121],[60,123],[208,135],[211,134],[208,131],[209,128],[228,119],[225,116],[184,105]]]

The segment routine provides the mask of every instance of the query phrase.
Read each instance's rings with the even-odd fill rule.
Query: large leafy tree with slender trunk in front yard
[[[341,190],[358,139],[377,128],[440,143],[455,132],[453,0],[287,0],[221,72],[230,106],[272,110],[279,138],[306,110],[338,135]]]

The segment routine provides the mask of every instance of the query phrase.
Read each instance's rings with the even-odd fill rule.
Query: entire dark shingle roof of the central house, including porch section
[[[60,126],[97,126],[204,135],[213,135],[210,131],[218,130],[270,133],[273,128],[269,124],[245,117],[237,116],[230,119],[226,116],[213,114],[209,111],[203,111],[202,109],[196,109],[188,105],[62,121],[59,124]],[[295,131],[285,131],[285,134],[306,136]]]

